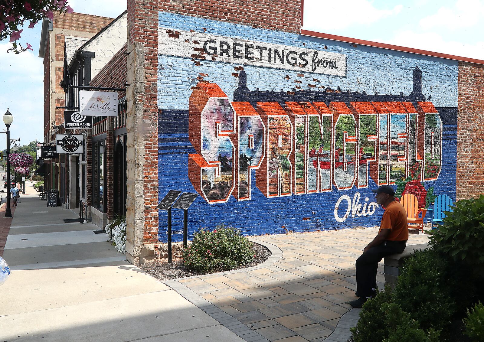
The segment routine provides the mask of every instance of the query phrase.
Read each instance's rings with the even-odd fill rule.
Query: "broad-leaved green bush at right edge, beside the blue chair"
[[[454,260],[471,265],[484,265],[484,195],[455,203],[453,212],[446,211],[443,225],[432,232],[430,245]]]

